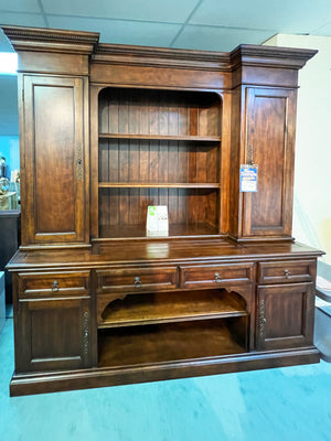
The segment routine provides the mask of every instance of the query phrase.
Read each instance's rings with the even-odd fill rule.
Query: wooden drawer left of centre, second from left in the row
[[[177,267],[97,270],[98,293],[166,291],[178,288]]]

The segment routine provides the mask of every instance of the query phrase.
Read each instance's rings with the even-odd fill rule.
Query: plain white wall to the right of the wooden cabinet
[[[265,44],[316,49],[299,73],[293,236],[331,265],[331,37],[278,34]]]

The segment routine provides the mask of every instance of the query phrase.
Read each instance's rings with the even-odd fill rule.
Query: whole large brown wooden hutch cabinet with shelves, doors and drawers
[[[291,237],[298,69],[316,51],[2,29],[22,186],[11,394],[319,362],[321,251]],[[150,205],[168,236],[147,236]]]

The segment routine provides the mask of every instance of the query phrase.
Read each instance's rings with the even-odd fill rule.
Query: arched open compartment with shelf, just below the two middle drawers
[[[108,304],[98,327],[244,316],[247,311],[226,290],[127,295]]]

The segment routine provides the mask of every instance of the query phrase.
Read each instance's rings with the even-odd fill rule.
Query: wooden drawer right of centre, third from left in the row
[[[181,267],[182,288],[226,287],[254,280],[254,263]]]

